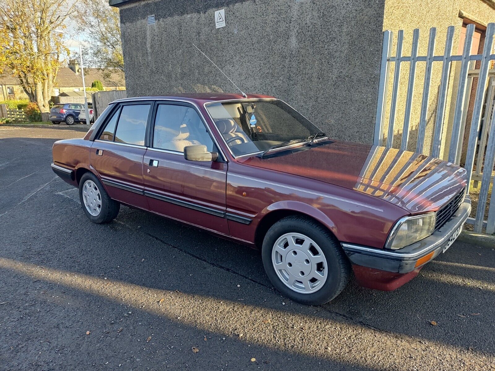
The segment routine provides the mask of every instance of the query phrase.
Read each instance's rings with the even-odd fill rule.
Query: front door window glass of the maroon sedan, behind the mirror
[[[153,129],[153,147],[184,152],[188,145],[204,144],[213,151],[213,141],[191,107],[175,104],[159,104]]]

